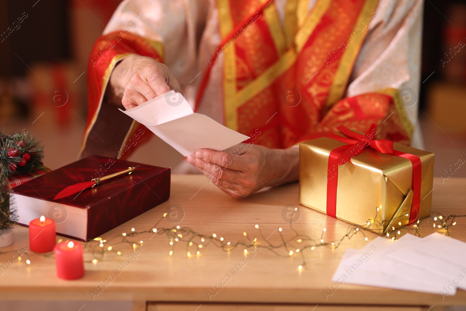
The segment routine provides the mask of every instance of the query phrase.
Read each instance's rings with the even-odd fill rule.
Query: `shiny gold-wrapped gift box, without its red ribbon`
[[[329,153],[347,145],[329,137],[300,145],[299,203],[319,212],[327,211]],[[421,203],[418,218],[429,216],[432,204],[434,154],[398,143],[393,149],[411,153],[422,164]],[[338,166],[336,218],[386,234],[409,222],[413,199],[411,161],[366,147]],[[401,224],[400,224],[401,223]]]

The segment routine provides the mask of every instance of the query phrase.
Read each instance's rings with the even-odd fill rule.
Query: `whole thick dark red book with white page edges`
[[[54,200],[63,188],[135,167],[133,173],[105,180],[79,194]],[[81,241],[147,212],[170,197],[170,168],[91,156],[20,186],[10,193],[16,222],[28,226],[42,215],[55,221],[59,235]]]

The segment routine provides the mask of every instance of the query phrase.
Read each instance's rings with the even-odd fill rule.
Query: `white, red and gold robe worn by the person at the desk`
[[[402,98],[418,90],[422,0],[380,2],[123,1],[89,60],[81,156],[134,150],[125,146],[142,125],[105,95],[132,54],[167,64],[195,111],[245,135],[259,130],[260,145],[371,123],[377,138],[410,144],[418,107]]]

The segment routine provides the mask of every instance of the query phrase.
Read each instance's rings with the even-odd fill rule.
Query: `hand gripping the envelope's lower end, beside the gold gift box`
[[[243,143],[231,149],[236,151],[201,149],[191,154],[188,162],[235,198],[298,180],[299,148],[270,149]]]

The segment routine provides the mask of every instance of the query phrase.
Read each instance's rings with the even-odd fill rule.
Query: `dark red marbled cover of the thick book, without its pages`
[[[65,187],[117,173],[130,166],[136,167],[131,174],[102,181],[100,185],[85,189],[79,194],[53,200]],[[11,192],[87,209],[87,237],[68,235],[84,241],[96,238],[168,200],[170,168],[91,156],[21,184]],[[60,225],[66,225],[66,221]],[[63,235],[58,232],[58,228],[57,233]]]

